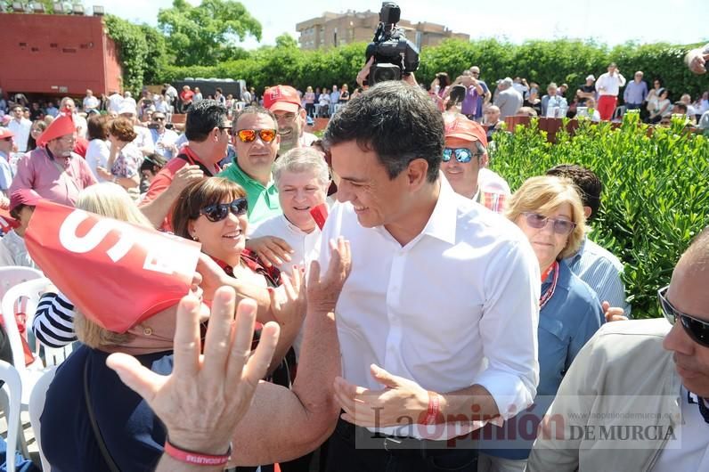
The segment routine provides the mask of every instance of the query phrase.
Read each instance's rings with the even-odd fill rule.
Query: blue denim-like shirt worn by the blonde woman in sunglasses
[[[502,427],[483,428],[480,451],[488,455],[511,460],[529,457],[536,427],[557,395],[571,362],[606,320],[593,290],[566,264],[558,266],[554,295],[539,312],[539,386],[534,405],[505,421]],[[550,273],[542,283],[542,294],[552,280]]]

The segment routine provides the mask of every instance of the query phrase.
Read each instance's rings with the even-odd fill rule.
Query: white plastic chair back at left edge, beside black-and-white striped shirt
[[[32,320],[35,317],[35,312],[37,311],[37,303],[39,302],[40,293],[45,290],[49,283],[49,279],[46,279],[45,277],[41,279],[24,281],[7,290],[7,293],[5,293],[3,297],[3,320],[5,331],[7,332],[7,338],[10,340],[10,347],[12,348],[12,363],[20,374],[27,368],[25,367],[25,354],[22,350],[20,330],[18,330],[17,321],[15,320],[14,304],[15,301],[20,299],[20,297],[28,298],[25,309],[25,326],[29,330],[29,327],[32,326]]]

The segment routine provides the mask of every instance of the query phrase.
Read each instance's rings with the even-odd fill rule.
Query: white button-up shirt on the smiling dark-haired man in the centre
[[[343,377],[383,388],[375,363],[427,390],[449,393],[485,387],[503,419],[532,403],[539,381],[537,323],[540,273],[526,236],[454,191],[441,191],[423,231],[401,246],[383,226],[363,228],[350,203],[332,208],[322,231],[352,248],[352,272],[338,299],[336,320]],[[436,427],[382,427],[390,435],[448,439],[469,433],[468,422]]]

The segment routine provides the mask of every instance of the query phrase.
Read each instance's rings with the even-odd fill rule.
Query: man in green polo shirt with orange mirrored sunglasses
[[[254,227],[282,213],[271,175],[281,142],[278,121],[265,108],[247,107],[234,119],[233,130],[236,158],[219,176],[244,188],[249,200],[249,227]]]

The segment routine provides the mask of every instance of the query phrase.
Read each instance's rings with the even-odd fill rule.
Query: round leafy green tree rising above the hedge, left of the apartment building
[[[232,0],[203,0],[192,6],[175,0],[172,8],[160,9],[158,26],[175,53],[175,65],[215,65],[240,55],[236,40],[251,35],[261,40],[261,23],[246,7]]]

